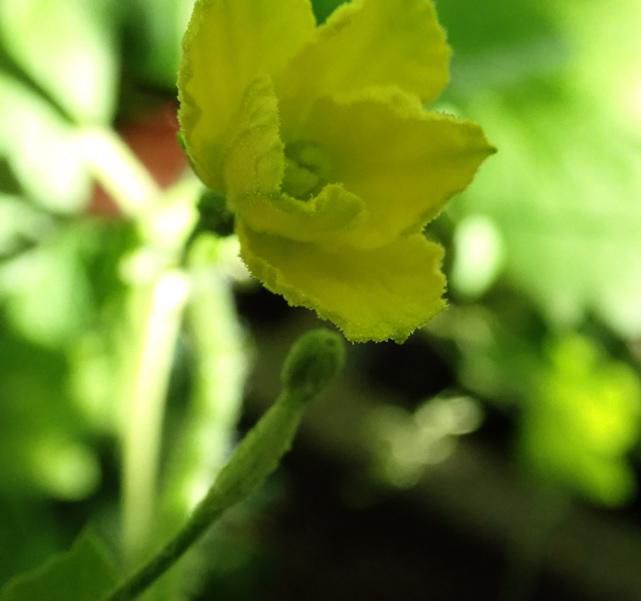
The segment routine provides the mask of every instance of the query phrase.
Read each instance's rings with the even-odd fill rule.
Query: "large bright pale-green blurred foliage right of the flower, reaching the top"
[[[458,237],[459,274],[473,271],[479,258],[470,249],[489,236],[504,249],[507,280],[552,325],[577,326],[594,314],[623,336],[638,335],[641,128],[612,98],[634,108],[638,83],[628,75],[639,49],[627,24],[641,18],[639,5],[623,2],[603,18],[609,5],[600,0],[494,0],[491,20],[471,20],[471,2],[442,4],[457,48],[449,100],[484,123],[502,150],[456,205],[467,234]],[[603,45],[595,40],[619,24],[617,47],[635,52],[596,53]],[[480,217],[484,230],[470,233],[468,220]]]

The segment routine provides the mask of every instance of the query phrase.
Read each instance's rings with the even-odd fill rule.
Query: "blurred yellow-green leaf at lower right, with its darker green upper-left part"
[[[451,339],[464,386],[516,408],[525,464],[548,484],[606,505],[635,490],[627,454],[641,434],[641,381],[578,334],[536,332],[518,298],[451,309],[431,325]],[[511,307],[511,309],[509,309]]]

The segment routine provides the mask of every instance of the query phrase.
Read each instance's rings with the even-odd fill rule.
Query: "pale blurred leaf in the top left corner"
[[[0,0],[4,50],[77,121],[113,117],[110,0]]]

